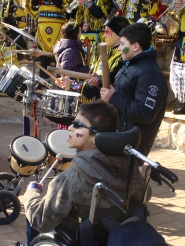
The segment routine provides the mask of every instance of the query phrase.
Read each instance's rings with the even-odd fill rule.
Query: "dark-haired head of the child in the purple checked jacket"
[[[61,36],[65,39],[77,40],[79,29],[79,25],[76,25],[75,22],[70,21],[62,26]]]

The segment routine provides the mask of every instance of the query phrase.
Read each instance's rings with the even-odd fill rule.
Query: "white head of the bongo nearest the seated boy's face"
[[[46,144],[51,154],[54,156],[60,153],[65,158],[74,158],[76,156],[76,149],[69,148],[67,139],[69,132],[66,130],[54,130],[47,134]]]

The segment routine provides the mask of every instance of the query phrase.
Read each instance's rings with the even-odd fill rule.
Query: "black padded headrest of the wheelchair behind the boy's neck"
[[[140,141],[141,133],[136,126],[126,132],[99,132],[95,137],[97,149],[106,155],[123,155],[126,145],[137,149]]]

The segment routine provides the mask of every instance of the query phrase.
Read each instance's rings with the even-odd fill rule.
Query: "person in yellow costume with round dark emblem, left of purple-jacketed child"
[[[69,0],[38,0],[39,15],[36,31],[36,40],[43,51],[52,52],[56,42],[60,39],[60,30],[66,23],[65,6],[70,4]],[[41,66],[47,69],[50,65],[51,56],[41,56]],[[40,70],[40,77],[48,79],[49,76]]]

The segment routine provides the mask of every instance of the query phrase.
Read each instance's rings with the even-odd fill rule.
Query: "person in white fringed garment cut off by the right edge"
[[[177,2],[179,12],[179,37],[170,66],[170,85],[175,97],[182,106],[172,111],[173,114],[185,114],[185,0]]]

